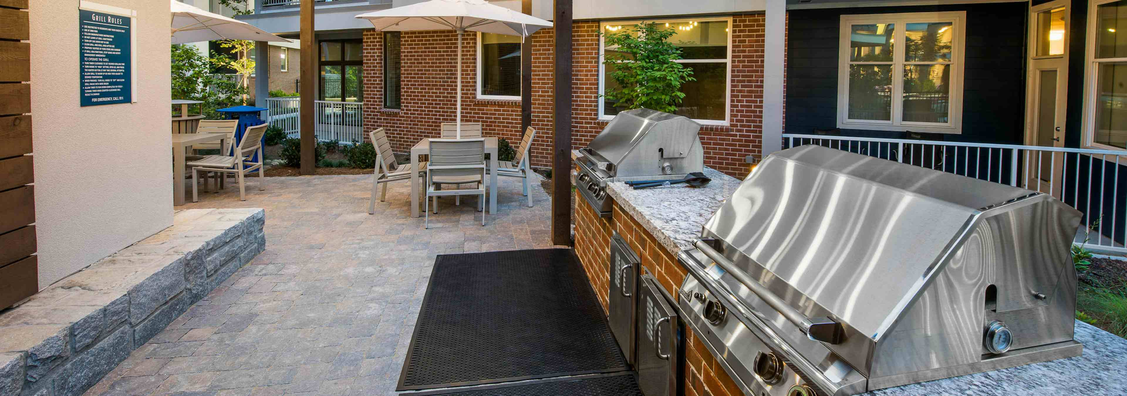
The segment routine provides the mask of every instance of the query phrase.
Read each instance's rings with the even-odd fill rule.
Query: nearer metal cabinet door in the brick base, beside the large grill
[[[638,385],[646,396],[677,395],[678,332],[676,304],[650,276],[638,287]]]

